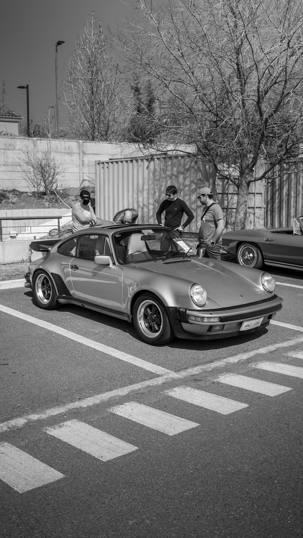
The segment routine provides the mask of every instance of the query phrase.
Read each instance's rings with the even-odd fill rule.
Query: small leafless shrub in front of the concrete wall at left
[[[52,153],[51,140],[46,140],[46,148],[25,148],[19,157],[22,178],[36,194],[44,194],[49,201],[51,193],[60,189],[60,178],[64,175],[61,165]]]

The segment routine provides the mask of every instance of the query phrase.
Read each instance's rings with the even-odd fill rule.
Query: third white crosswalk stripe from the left
[[[181,431],[200,426],[196,422],[191,422],[190,420],[182,419],[180,416],[171,415],[165,411],[137,404],[136,402],[111,407],[109,411],[167,435],[175,435]]]

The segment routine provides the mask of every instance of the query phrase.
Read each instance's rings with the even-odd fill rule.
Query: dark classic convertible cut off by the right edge
[[[222,248],[246,267],[260,269],[265,264],[303,271],[303,216],[294,218],[292,228],[223,233]]]

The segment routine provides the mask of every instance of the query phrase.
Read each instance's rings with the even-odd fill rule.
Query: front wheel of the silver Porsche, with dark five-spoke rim
[[[173,340],[170,318],[163,302],[156,295],[140,295],[133,306],[132,318],[135,329],[144,342],[164,345]]]

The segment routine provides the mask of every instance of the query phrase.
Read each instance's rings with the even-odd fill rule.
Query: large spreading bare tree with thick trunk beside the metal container
[[[244,228],[249,184],[300,154],[302,2],[131,3],[133,18],[114,36],[124,61],[157,81],[166,136],[193,143],[200,159],[234,183],[235,228]]]

